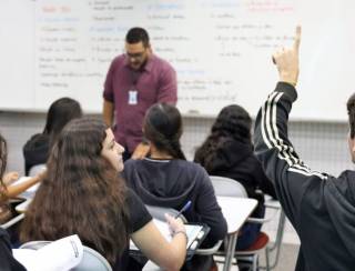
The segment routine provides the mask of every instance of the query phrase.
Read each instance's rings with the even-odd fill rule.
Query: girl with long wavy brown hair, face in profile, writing
[[[168,217],[172,241],[161,235],[142,201],[118,174],[123,170],[123,151],[101,120],[82,118],[65,126],[26,213],[21,240],[52,241],[78,234],[121,271],[131,270],[131,238],[149,259],[179,270],[186,252],[185,228],[181,220]]]

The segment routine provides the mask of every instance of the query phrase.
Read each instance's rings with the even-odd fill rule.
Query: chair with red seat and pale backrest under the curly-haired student
[[[216,195],[247,198],[247,193],[244,187],[240,182],[230,178],[216,177],[216,175],[210,175],[210,179],[212,181]],[[251,223],[265,223],[270,220],[272,220],[272,218],[266,218],[266,219],[248,218],[246,221]],[[268,271],[270,270],[270,263],[268,263],[270,250],[267,250],[267,243],[268,243],[268,235],[261,231],[255,242],[247,250],[236,251],[235,257],[237,260],[251,261],[253,270],[255,271],[258,268],[258,262],[257,262],[258,252],[261,250],[265,250],[266,265],[264,268],[265,270]],[[221,254],[221,253],[216,253],[216,254]]]

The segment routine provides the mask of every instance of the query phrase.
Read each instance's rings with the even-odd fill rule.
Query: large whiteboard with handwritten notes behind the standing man
[[[131,27],[178,72],[183,114],[230,103],[252,116],[274,89],[271,54],[303,27],[298,102],[292,117],[344,121],[353,87],[352,0],[1,0],[0,109],[47,111],[60,97],[101,112],[111,60]]]

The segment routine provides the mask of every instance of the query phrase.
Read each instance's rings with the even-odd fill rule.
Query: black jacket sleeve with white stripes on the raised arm
[[[280,82],[258,111],[255,121],[255,154],[292,224],[300,229],[301,203],[311,187],[321,188],[327,175],[312,171],[298,158],[288,140],[287,122],[297,93],[293,86]],[[320,193],[321,194],[321,193]]]

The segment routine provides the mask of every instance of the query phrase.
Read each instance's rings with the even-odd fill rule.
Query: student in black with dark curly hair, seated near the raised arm
[[[210,175],[234,179],[243,184],[247,195],[258,201],[253,218],[264,218],[264,194],[276,197],[271,181],[254,155],[252,144],[252,119],[244,108],[232,104],[223,108],[214,121],[211,134],[196,150],[194,161]],[[261,190],[256,192],[256,190]],[[240,231],[236,249],[251,247],[261,230],[261,224],[246,223]]]

